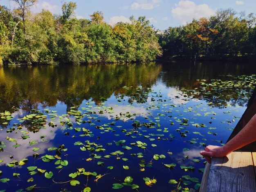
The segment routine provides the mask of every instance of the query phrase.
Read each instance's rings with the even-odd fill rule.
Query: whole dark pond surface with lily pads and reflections
[[[0,112],[13,116],[0,114],[0,190],[114,191],[127,176],[141,192],[175,190],[168,181],[180,178],[183,190],[197,188],[199,151],[225,143],[256,85],[253,74],[256,65],[241,63],[0,68]],[[147,186],[146,177],[156,183]]]

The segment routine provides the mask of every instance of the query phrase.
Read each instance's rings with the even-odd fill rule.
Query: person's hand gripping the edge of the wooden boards
[[[200,154],[204,156],[208,163],[211,163],[211,157],[224,157],[227,156],[229,152],[225,152],[223,147],[208,145],[207,147],[205,147],[204,151],[200,151]]]

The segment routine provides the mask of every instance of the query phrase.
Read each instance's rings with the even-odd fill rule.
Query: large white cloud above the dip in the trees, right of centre
[[[182,24],[191,22],[193,18],[199,19],[202,17],[209,17],[215,14],[215,10],[211,9],[208,4],[196,5],[190,0],[181,0],[179,4],[175,4],[172,8],[173,18],[180,20]]]

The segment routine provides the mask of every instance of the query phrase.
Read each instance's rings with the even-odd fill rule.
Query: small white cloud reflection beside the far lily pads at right
[[[191,98],[188,98],[188,97],[184,97],[184,93],[180,90],[177,90],[175,88],[170,88],[168,93],[167,93],[167,97],[169,98],[172,98],[173,100],[173,103],[174,104],[185,104],[185,103],[188,103],[190,100],[193,100],[193,101],[199,101],[198,99],[191,99]],[[185,99],[185,100],[184,100]]]

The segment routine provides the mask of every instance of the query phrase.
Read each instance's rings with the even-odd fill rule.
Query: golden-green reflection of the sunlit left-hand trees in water
[[[90,98],[100,104],[102,97],[109,98],[113,93],[130,96],[139,85],[151,87],[161,69],[154,63],[0,68],[0,111],[14,105],[29,114],[38,105],[50,107],[58,100],[67,109]]]

